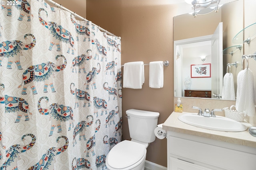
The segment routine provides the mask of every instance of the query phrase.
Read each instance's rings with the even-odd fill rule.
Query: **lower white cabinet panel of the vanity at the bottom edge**
[[[170,169],[168,170],[213,170],[206,168],[205,166],[200,166],[191,162],[180,160],[170,156]]]

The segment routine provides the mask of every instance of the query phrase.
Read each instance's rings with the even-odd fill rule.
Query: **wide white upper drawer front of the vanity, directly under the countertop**
[[[174,137],[170,135],[173,132],[168,131],[167,133],[169,134],[169,156],[184,158],[192,162],[201,162],[202,165],[209,165],[208,167],[218,167],[216,168],[218,170],[256,170],[255,148],[224,142],[218,142],[217,144],[217,141],[214,140],[192,137],[186,134]],[[187,138],[184,139],[183,137]],[[229,148],[226,146],[229,146]]]

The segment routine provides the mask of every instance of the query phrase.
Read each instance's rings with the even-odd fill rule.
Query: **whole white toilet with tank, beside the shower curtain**
[[[158,112],[129,109],[126,111],[131,141],[124,140],[108,153],[108,170],[144,170],[147,147],[155,141]]]

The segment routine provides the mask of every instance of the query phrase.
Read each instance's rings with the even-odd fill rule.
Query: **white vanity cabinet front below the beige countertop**
[[[254,147],[174,131],[167,145],[168,170],[256,170]]]

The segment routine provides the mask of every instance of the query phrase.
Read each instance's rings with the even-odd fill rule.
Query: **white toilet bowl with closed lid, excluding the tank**
[[[146,147],[134,141],[122,141],[107,155],[108,170],[144,170]]]

